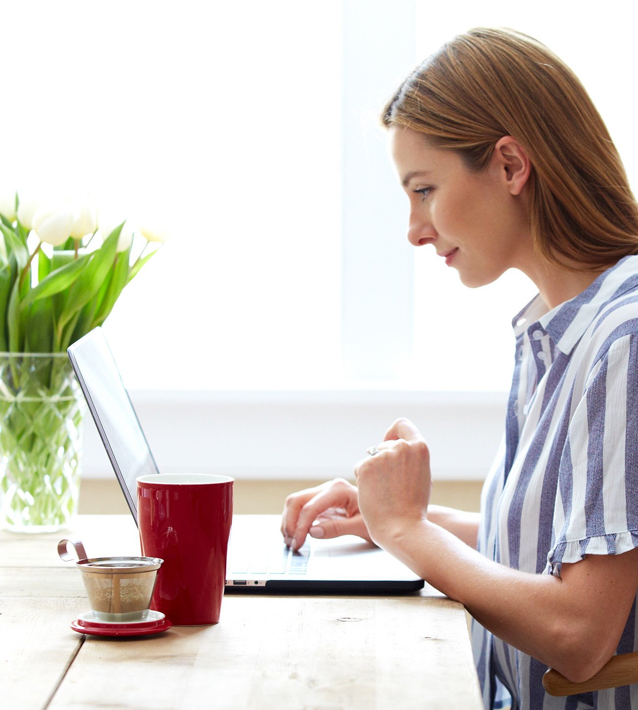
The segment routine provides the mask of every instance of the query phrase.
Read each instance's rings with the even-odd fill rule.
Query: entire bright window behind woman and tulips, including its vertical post
[[[620,77],[634,38],[621,8],[10,4],[0,60],[19,109],[3,113],[0,182],[91,192],[172,226],[106,325],[133,389],[503,391],[510,320],[534,287],[508,273],[467,290],[407,244],[378,114],[444,40],[512,26],[581,77],[631,175],[636,99]]]

